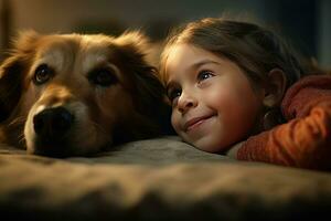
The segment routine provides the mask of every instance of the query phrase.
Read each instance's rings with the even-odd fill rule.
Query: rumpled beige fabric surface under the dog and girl
[[[0,151],[3,220],[293,220],[330,207],[331,173],[236,161],[174,137],[90,158]]]

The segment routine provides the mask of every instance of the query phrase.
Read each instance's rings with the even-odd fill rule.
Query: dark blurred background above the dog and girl
[[[0,56],[19,30],[117,35],[141,29],[158,42],[173,25],[227,12],[277,28],[301,53],[331,67],[330,11],[329,0],[0,0]]]

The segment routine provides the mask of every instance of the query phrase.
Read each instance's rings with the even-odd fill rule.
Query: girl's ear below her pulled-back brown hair
[[[280,69],[273,69],[268,73],[265,88],[264,105],[268,108],[279,106],[286,90],[286,75]]]

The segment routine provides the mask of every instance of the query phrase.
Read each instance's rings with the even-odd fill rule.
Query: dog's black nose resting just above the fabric
[[[33,117],[38,136],[50,143],[61,141],[72,127],[74,116],[64,107],[46,108]]]

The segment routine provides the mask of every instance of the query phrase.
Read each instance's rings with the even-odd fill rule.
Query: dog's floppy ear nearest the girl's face
[[[161,133],[172,134],[171,107],[166,103],[166,88],[158,78],[158,70],[147,59],[151,52],[149,38],[139,31],[130,31],[117,38],[116,43],[132,67],[137,110],[157,124],[154,126],[160,127]]]

